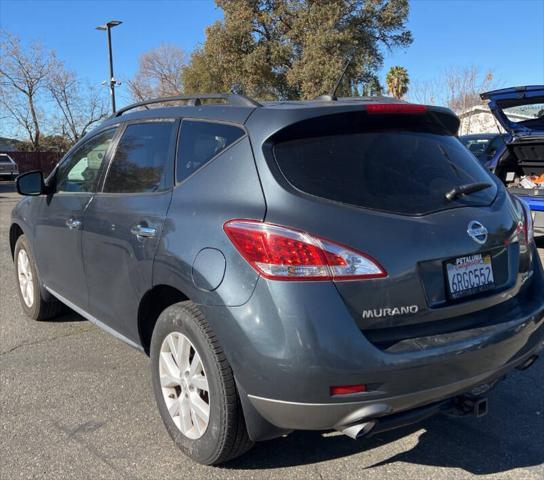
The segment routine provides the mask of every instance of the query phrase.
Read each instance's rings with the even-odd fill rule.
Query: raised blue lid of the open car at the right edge
[[[504,129],[516,136],[544,135],[544,85],[510,87],[482,93]]]

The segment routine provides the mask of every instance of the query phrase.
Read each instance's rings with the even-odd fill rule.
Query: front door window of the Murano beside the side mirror
[[[92,192],[96,189],[115,130],[112,128],[91,138],[60,164],[56,175],[57,192]]]

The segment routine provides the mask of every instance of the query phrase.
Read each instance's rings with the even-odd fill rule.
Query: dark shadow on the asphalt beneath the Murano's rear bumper
[[[370,464],[363,468],[369,471],[397,462],[458,468],[473,475],[538,466],[544,463],[544,404],[540,387],[544,369],[542,361],[537,365],[531,369],[535,373],[515,375],[491,392],[490,413],[483,418],[438,415],[418,425],[357,441],[341,434],[294,432],[257,443],[248,454],[223,468],[284,468],[356,454],[368,454]],[[523,397],[518,395],[518,388],[524,391]],[[513,411],[513,406],[518,408]],[[396,453],[383,459],[388,445],[414,433],[419,436],[413,447],[398,453],[399,445],[395,445],[391,450]],[[376,457],[381,460],[372,461]]]

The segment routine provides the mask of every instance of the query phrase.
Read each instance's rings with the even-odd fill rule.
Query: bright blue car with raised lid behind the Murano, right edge
[[[544,85],[504,88],[481,97],[510,134],[506,149],[489,167],[529,206],[535,232],[544,234],[544,183],[527,181],[544,178]]]

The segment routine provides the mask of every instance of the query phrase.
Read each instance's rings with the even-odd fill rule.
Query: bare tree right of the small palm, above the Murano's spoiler
[[[491,70],[482,74],[476,66],[450,68],[444,74],[446,102],[454,112],[482,105],[480,93],[493,88],[494,77]]]

